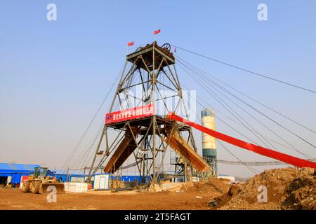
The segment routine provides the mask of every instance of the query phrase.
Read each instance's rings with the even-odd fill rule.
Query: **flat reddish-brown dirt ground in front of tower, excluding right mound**
[[[217,180],[216,180],[217,181]],[[222,184],[221,181],[220,185]],[[225,186],[225,183],[223,183]],[[20,189],[0,189],[0,209],[209,209],[210,196],[222,195],[223,186],[200,187],[187,184],[173,191],[159,193],[88,192],[57,195],[57,202],[48,203],[47,195],[22,193]],[[226,187],[228,190],[229,187]],[[186,189],[186,190],[185,190]]]

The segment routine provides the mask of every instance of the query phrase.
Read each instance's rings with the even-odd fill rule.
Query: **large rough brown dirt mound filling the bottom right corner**
[[[267,202],[258,202],[259,186],[267,188]],[[232,185],[228,193],[212,200],[210,206],[218,209],[316,209],[315,170],[266,170],[243,186]]]

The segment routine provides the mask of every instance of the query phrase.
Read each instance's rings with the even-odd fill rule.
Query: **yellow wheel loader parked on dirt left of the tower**
[[[65,193],[64,183],[60,183],[56,180],[55,176],[50,176],[51,172],[46,167],[35,167],[34,174],[28,177],[22,185],[22,192],[33,194],[43,194],[51,191],[56,193]],[[54,186],[55,188],[50,188]]]

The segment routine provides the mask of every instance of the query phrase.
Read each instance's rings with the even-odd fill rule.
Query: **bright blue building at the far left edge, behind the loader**
[[[0,184],[20,183],[21,176],[29,176],[34,172],[34,167],[39,165],[15,164],[15,163],[0,163]]]

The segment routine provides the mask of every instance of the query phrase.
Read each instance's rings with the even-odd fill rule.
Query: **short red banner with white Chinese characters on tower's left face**
[[[144,118],[154,115],[154,104],[148,104],[145,106],[138,106],[123,111],[115,111],[107,113],[105,116],[105,123],[117,123],[124,120],[132,120],[136,118]]]

